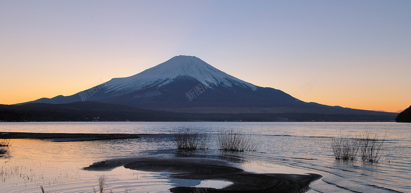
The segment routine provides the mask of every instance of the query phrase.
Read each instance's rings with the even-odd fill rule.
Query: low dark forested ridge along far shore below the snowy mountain
[[[174,113],[92,101],[0,104],[2,121],[391,121],[396,114]]]

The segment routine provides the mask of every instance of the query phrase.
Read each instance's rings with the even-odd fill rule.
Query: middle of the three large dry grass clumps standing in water
[[[218,145],[224,151],[256,151],[260,148],[261,141],[239,131],[228,131],[218,135]]]

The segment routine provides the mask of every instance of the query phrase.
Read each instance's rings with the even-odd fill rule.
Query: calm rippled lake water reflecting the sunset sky
[[[214,139],[209,150],[180,152],[173,136],[190,128]],[[379,163],[335,161],[333,137],[355,136],[368,129],[387,133]],[[218,150],[217,135],[239,130],[263,145],[256,152]],[[216,188],[230,182],[180,180],[167,174],[129,170],[82,170],[94,162],[133,156],[197,156],[223,159],[260,173],[319,173],[322,179],[309,192],[411,192],[411,124],[395,122],[1,122],[0,132],[137,133],[163,134],[138,139],[88,142],[52,142],[15,139],[0,154],[0,193],[94,192],[106,177],[105,190],[113,192],[169,192],[175,186]]]

